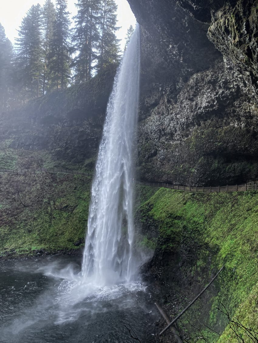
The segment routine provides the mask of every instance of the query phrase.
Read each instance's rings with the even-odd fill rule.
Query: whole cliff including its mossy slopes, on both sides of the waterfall
[[[141,25],[136,177],[191,186],[256,182],[258,1],[128,2]],[[92,171],[116,68],[0,114],[0,169]],[[27,173],[0,175],[0,186],[3,256],[83,246],[90,180]],[[257,194],[137,186],[136,198],[136,244],[155,250],[142,274],[171,317],[225,264],[179,322],[184,338],[192,325],[193,339],[203,333],[214,342],[215,330],[219,342],[237,342],[217,310],[222,304],[258,331]]]

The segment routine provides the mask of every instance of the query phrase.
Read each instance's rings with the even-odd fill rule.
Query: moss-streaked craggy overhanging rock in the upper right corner
[[[258,1],[226,4],[213,16],[208,38],[245,76],[253,92],[258,89]]]

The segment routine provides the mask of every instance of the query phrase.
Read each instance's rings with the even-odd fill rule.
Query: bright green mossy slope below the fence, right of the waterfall
[[[227,323],[217,310],[222,303],[231,316],[258,331],[257,213],[256,193],[194,194],[170,189],[160,189],[138,210],[143,225],[157,227],[157,249],[163,254],[178,255],[180,260],[185,248],[192,249],[192,261],[187,263],[191,274],[198,275],[198,283],[209,280],[225,264],[215,283],[216,291],[209,291],[211,296],[204,305],[208,308],[207,325],[215,330],[222,330]],[[184,327],[187,320],[198,322],[201,307],[197,302],[181,325]],[[219,342],[237,340],[227,327]]]

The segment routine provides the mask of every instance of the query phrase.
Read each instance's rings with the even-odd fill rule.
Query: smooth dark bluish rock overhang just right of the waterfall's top
[[[207,38],[208,25],[194,19],[176,1],[128,2],[142,26],[143,83],[173,80],[182,84],[221,58]]]

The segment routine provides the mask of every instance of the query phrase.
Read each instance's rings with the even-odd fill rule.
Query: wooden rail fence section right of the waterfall
[[[197,186],[181,186],[181,185],[170,185],[165,182],[142,182],[142,181],[134,181],[137,185],[149,186],[149,187],[164,187],[170,189],[177,189],[185,192],[196,192],[196,193],[214,193],[214,192],[246,192],[246,191],[256,191],[257,192],[257,183],[253,185],[243,184],[243,185],[235,185],[235,186],[218,186],[218,187],[197,187]]]

